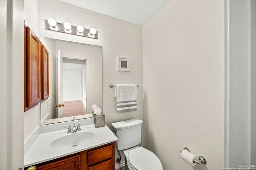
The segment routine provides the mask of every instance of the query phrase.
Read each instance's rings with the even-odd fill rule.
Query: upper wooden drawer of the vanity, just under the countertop
[[[88,152],[88,165],[112,158],[112,145]]]

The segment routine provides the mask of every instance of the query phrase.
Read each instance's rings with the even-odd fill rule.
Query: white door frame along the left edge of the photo
[[[1,0],[0,10],[0,169],[18,170],[24,168],[24,0]]]

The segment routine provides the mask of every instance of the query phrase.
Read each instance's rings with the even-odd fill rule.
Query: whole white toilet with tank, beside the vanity
[[[161,161],[153,152],[138,146],[141,143],[142,123],[140,119],[112,123],[118,138],[116,147],[123,150],[125,155],[125,169],[163,170]]]

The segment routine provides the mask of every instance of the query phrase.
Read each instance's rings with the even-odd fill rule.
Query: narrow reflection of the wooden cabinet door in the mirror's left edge
[[[49,52],[42,45],[42,98],[41,102],[49,97]]]

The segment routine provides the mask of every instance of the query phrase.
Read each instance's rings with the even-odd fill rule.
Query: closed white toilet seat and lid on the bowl
[[[129,151],[127,160],[133,170],[163,170],[159,158],[143,147]]]

